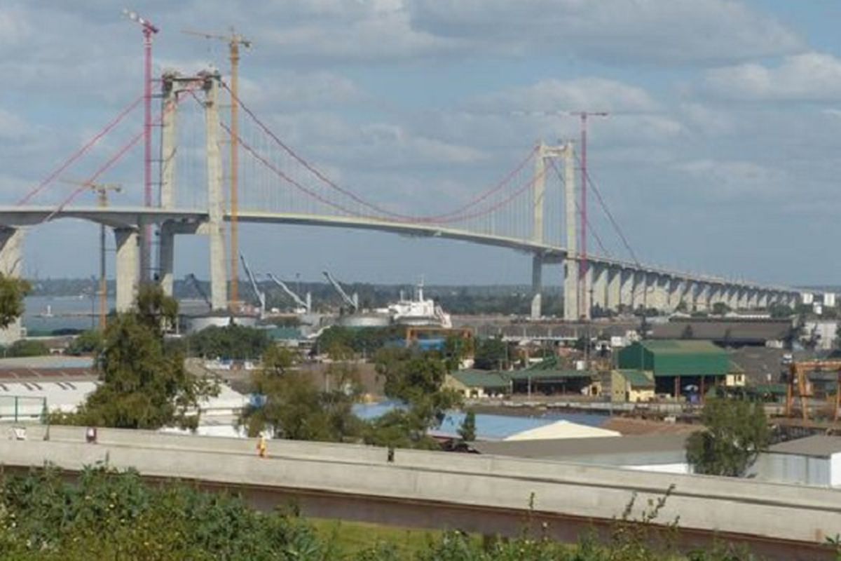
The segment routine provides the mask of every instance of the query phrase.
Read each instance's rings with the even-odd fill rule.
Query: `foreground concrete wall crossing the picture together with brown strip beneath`
[[[258,508],[292,500],[305,516],[509,535],[529,521],[566,541],[608,532],[635,495],[638,516],[674,485],[658,521],[679,517],[682,545],[743,542],[775,559],[834,558],[822,544],[841,531],[841,490],[415,450],[389,462],[385,448],[320,442],[272,440],[258,458],[253,439],[99,429],[88,444],[84,433],[28,426],[26,440],[0,440],[0,462],[7,471],[49,462],[72,476],[106,461],[231,490]]]

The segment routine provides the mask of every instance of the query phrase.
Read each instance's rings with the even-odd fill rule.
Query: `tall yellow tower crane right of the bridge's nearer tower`
[[[239,294],[239,272],[240,264],[237,256],[240,255],[240,225],[239,225],[239,194],[237,193],[237,174],[239,170],[239,143],[240,137],[239,122],[239,74],[240,74],[240,46],[246,49],[251,48],[251,40],[247,40],[241,34],[230,29],[230,34],[205,33],[204,31],[191,31],[182,29],[182,33],[225,41],[228,44],[230,57],[230,92],[234,99],[230,100],[230,308],[234,310],[240,301]]]

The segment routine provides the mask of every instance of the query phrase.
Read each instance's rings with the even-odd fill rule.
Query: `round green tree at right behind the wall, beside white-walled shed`
[[[768,420],[761,403],[712,398],[701,412],[704,430],[686,441],[686,459],[698,474],[743,477],[768,447]]]

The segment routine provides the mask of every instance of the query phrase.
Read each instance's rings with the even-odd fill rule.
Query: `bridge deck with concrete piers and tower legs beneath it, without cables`
[[[482,234],[442,227],[435,224],[377,220],[347,216],[320,216],[263,211],[241,211],[241,222],[255,224],[305,225],[355,230],[377,230],[401,236],[433,237],[467,241],[484,246],[495,246],[532,255],[532,315],[540,315],[542,292],[542,266],[563,263],[564,294],[576,293],[580,287],[576,257],[563,246],[531,240]],[[142,206],[109,207],[73,206],[56,209],[50,206],[0,206],[0,267],[13,272],[21,261],[24,229],[45,221],[75,218],[103,224],[114,230],[117,244],[117,308],[130,307],[140,278],[138,267],[138,234],[142,225],[156,224],[160,230],[160,279],[167,291],[172,291],[174,265],[174,236],[189,234],[220,235],[225,221],[230,219],[224,211],[220,220],[212,213],[197,209],[161,209]],[[214,231],[216,230],[216,231]],[[221,254],[220,254],[221,251]],[[588,274],[582,280],[584,290],[590,294],[593,305],[605,310],[620,307],[647,308],[671,311],[681,302],[690,309],[707,310],[718,302],[732,308],[764,307],[779,302],[791,304],[799,292],[791,288],[730,281],[706,275],[672,271],[659,267],[623,262],[605,257],[588,257]],[[225,294],[224,245],[211,244],[210,251],[211,293],[214,308],[227,305]],[[566,319],[576,320],[575,315],[565,314]]]

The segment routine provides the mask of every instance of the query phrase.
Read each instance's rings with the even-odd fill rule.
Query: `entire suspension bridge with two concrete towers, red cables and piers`
[[[581,172],[574,143],[539,144],[516,163],[498,183],[476,193],[454,208],[436,214],[413,214],[393,205],[362,197],[331,179],[330,175],[272,130],[216,71],[182,76],[165,73],[161,83],[161,110],[153,125],[158,139],[159,200],[156,205],[133,204],[103,208],[78,204],[82,193],[105,176],[148,134],[148,128],[115,147],[87,181],[55,200],[52,186],[62,174],[89,156],[94,146],[119,127],[140,105],[141,98],[124,108],[77,151],[68,156],[16,204],[0,206],[0,268],[21,273],[24,233],[52,220],[75,218],[105,225],[116,241],[116,307],[127,310],[137,288],[155,279],[172,294],[175,236],[209,238],[210,300],[214,310],[230,306],[230,222],[306,225],[378,230],[403,236],[436,237],[498,246],[532,256],[532,317],[542,315],[543,266],[563,264],[564,318],[590,317],[602,310],[636,310],[640,306],[675,310],[709,310],[721,302],[733,309],[763,308],[773,303],[793,304],[800,293],[791,288],[734,281],[714,275],[686,273],[640,262],[616,224],[598,190],[598,202],[627,250],[627,257],[607,254],[590,223],[584,226],[600,246],[600,254],[579,251],[579,190]],[[241,129],[221,117],[223,103],[235,104],[244,115]],[[201,130],[198,134],[196,130]],[[233,132],[237,130],[238,132]],[[222,149],[235,143],[242,158],[237,164],[241,189],[237,198],[226,196],[225,172],[230,161]],[[590,177],[584,177],[590,181]],[[595,185],[590,182],[591,187]],[[50,198],[51,197],[51,198]],[[233,200],[232,200],[233,199]],[[234,203],[235,204],[232,204]],[[156,230],[156,259],[142,258]]]

